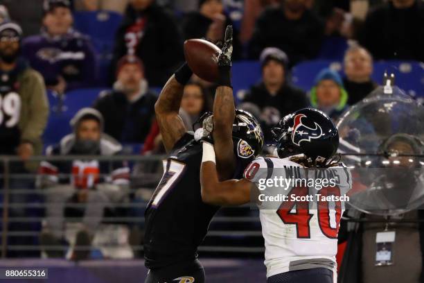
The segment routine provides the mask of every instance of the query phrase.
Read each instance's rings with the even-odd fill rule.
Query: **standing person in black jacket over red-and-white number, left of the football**
[[[113,69],[124,55],[136,55],[143,61],[150,85],[161,86],[182,61],[182,54],[173,17],[154,0],[132,0],[116,33]]]

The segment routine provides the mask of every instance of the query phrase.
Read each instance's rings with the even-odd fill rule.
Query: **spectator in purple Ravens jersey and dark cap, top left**
[[[68,0],[44,1],[42,32],[27,37],[22,51],[46,86],[60,94],[96,81],[96,58],[89,38],[72,28]]]

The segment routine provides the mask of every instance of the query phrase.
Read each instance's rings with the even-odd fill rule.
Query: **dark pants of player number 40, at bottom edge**
[[[310,268],[289,271],[267,278],[267,283],[335,283],[333,271],[327,268]]]

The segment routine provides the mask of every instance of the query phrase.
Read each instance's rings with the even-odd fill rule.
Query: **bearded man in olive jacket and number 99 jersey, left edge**
[[[48,101],[42,76],[21,57],[21,36],[18,24],[0,24],[0,154],[28,160],[42,153]]]

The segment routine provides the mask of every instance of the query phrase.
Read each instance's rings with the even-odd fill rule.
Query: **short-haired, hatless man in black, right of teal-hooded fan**
[[[378,86],[371,78],[373,58],[362,46],[352,46],[344,54],[344,89],[349,94],[348,104],[361,101]]]

